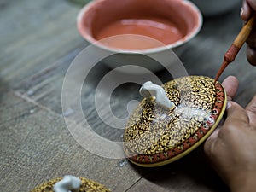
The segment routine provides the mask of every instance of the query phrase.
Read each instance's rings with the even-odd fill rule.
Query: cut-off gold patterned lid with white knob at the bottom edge
[[[66,176],[66,177],[69,177],[69,176]],[[73,177],[73,176],[71,176],[71,177]],[[107,189],[105,186],[103,186],[101,183],[96,183],[95,181],[92,181],[92,180],[90,180],[88,178],[84,178],[84,177],[75,178],[75,179],[79,179],[79,189],[73,189],[74,184],[70,183],[70,177],[67,178],[67,182],[65,181],[65,183],[61,183],[61,181],[63,181],[64,178],[65,177],[63,177],[63,178],[57,177],[52,180],[49,180],[48,182],[38,185],[35,189],[32,189],[31,192],[58,192],[58,191],[110,192],[110,190]],[[59,189],[54,189],[56,183],[60,183],[60,184],[62,184],[62,186],[59,186]],[[68,188],[68,186],[70,186],[71,189],[64,189],[64,188]]]

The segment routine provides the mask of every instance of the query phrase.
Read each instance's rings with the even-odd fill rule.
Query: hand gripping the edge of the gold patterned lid
[[[256,96],[247,108],[231,102],[238,80],[229,77],[223,86],[228,95],[227,118],[204,145],[205,153],[224,182],[235,191],[256,189]]]

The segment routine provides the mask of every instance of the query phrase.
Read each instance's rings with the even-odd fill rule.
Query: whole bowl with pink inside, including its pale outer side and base
[[[148,35],[132,32],[98,38],[102,31],[108,30],[108,27],[113,24],[115,25],[117,22],[129,24],[134,20],[137,22],[136,25],[157,26],[158,29],[170,27],[161,23],[162,20],[171,22],[177,27],[174,31],[180,31],[182,37],[170,44]],[[142,23],[144,20],[146,22]],[[79,33],[87,42],[95,46],[97,49],[95,54],[105,52],[105,55],[111,55],[104,60],[108,67],[115,68],[133,64],[147,67],[153,72],[163,68],[162,65],[155,64],[155,58],[161,58],[161,61],[171,65],[172,59],[167,56],[170,55],[168,54],[170,49],[180,54],[183,51],[183,44],[195,38],[201,25],[200,10],[194,3],[185,0],[97,0],[86,4],[77,18]],[[116,30],[116,32],[119,31]],[[155,34],[159,34],[159,32],[155,32]],[[168,40],[168,38],[166,39]],[[170,38],[172,38],[171,35]],[[123,47],[115,46],[116,44]],[[125,73],[128,71],[125,69]],[[131,71],[131,73],[134,72]]]

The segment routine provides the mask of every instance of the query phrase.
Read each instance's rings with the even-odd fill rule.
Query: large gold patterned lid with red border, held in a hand
[[[157,94],[144,98],[125,127],[125,155],[138,166],[163,166],[189,154],[210,136],[224,114],[226,94],[214,79],[188,76],[162,88],[173,107],[158,104]]]

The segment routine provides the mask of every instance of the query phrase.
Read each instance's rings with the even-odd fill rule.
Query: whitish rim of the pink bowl
[[[189,34],[187,34],[183,38],[179,39],[177,42],[174,42],[172,44],[163,44],[159,40],[152,38],[152,39],[154,39],[155,42],[159,42],[160,44],[162,44],[162,46],[155,47],[155,48],[149,48],[149,49],[121,49],[121,48],[108,47],[107,45],[102,44],[101,40],[96,40],[95,38],[92,38],[90,35],[88,35],[88,33],[82,32],[82,27],[83,27],[82,21],[83,21],[84,14],[91,7],[93,7],[96,3],[100,3],[102,1],[106,1],[106,0],[92,0],[90,3],[85,4],[84,8],[82,8],[79,11],[76,21],[77,21],[77,28],[78,28],[79,34],[86,41],[88,41],[88,43],[96,45],[96,47],[99,47],[101,49],[105,49],[108,51],[121,52],[121,53],[125,53],[125,54],[137,54],[137,53],[152,54],[152,53],[164,51],[166,49],[175,49],[175,48],[181,46],[182,44],[189,42],[189,40],[191,40],[192,38],[194,38],[201,31],[201,27],[203,24],[203,16],[202,16],[201,10],[195,5],[195,3],[192,3],[189,0],[180,0],[180,3],[183,3],[184,6],[189,6],[189,8],[195,13],[195,16],[198,20],[198,25],[194,26],[193,29],[191,30],[191,32],[189,32]],[[172,0],[170,0],[170,1],[172,1]],[[129,34],[122,34],[122,35],[129,35]],[[140,36],[138,34],[135,34],[135,35]],[[143,35],[141,35],[141,36],[143,36]],[[147,36],[143,36],[143,37],[147,37]],[[147,38],[150,38],[150,37],[147,37]]]

